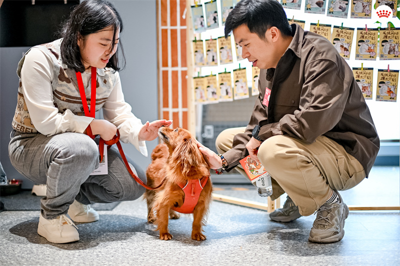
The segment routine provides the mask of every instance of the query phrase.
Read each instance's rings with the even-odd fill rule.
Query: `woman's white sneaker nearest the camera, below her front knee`
[[[48,220],[43,216],[39,218],[37,234],[51,243],[69,243],[79,240],[77,227],[65,215]]]

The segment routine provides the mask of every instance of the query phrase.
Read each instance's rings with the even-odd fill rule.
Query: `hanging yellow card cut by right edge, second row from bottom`
[[[399,59],[400,28],[380,28],[379,33],[379,60]]]

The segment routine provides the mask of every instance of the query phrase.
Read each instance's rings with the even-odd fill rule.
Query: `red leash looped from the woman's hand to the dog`
[[[92,134],[90,125],[88,125],[87,128],[86,128],[86,134],[87,134],[91,139],[94,140],[94,137],[95,137],[95,136],[93,136],[93,134]],[[123,153],[122,145],[121,145],[121,143],[119,142],[119,136],[120,136],[120,135],[119,135],[119,131],[118,131],[118,129],[117,129],[117,130],[116,130],[116,134],[115,134],[115,136],[114,136],[112,139],[107,140],[107,141],[104,141],[102,138],[100,138],[100,140],[99,140],[99,145],[98,145],[98,150],[99,150],[99,153],[100,153],[100,162],[103,160],[103,155],[104,155],[104,144],[107,145],[107,149],[109,149],[109,148],[111,147],[111,145],[116,144],[116,146],[118,147],[119,154],[120,154],[121,157],[122,157],[122,161],[123,161],[123,163],[125,164],[126,170],[128,170],[128,173],[130,174],[130,176],[131,176],[137,183],[139,183],[142,187],[144,187],[144,188],[146,188],[146,189],[148,189],[148,190],[154,190],[154,189],[160,188],[160,187],[162,186],[162,184],[164,184],[165,178],[162,180],[161,184],[159,184],[159,185],[158,185],[157,187],[155,187],[155,188],[152,188],[152,187],[149,187],[149,186],[147,186],[146,184],[144,184],[144,182],[141,181],[140,178],[138,178],[138,177],[133,173],[132,169],[130,168],[130,166],[129,166],[129,164],[128,164],[128,161],[126,160],[126,156],[125,156],[125,154]]]

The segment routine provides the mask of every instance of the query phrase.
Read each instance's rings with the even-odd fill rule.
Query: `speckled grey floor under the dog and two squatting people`
[[[368,180],[341,193],[348,205],[398,206],[398,167],[374,167]],[[218,185],[215,193],[266,202],[248,185]],[[284,202],[284,196],[281,201]],[[268,213],[212,202],[205,235],[190,239],[190,216],[170,220],[171,241],[146,224],[142,200],[99,211],[77,224],[80,240],[51,244],[37,235],[38,211],[0,213],[0,265],[400,265],[399,211],[350,211],[342,241],[307,241],[314,215],[275,223]]]

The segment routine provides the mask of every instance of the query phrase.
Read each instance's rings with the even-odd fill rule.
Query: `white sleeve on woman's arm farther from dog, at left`
[[[38,132],[52,136],[85,131],[93,118],[74,115],[68,109],[59,113],[53,104],[53,63],[47,54],[39,48],[32,48],[25,55],[20,75],[26,107]]]

